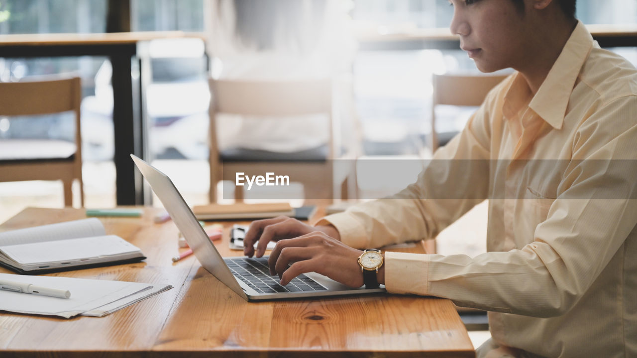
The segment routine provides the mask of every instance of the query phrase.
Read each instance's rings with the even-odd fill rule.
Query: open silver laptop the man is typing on
[[[315,272],[299,275],[289,284],[281,286],[277,275],[269,275],[268,256],[259,259],[224,259],[170,178],[135,155],[131,154],[131,157],[173,218],[201,266],[243,299],[259,301],[385,292],[383,286],[378,289],[352,289]]]

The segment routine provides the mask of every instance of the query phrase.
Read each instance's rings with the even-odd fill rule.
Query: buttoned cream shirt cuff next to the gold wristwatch
[[[385,252],[385,289],[393,294],[429,294],[429,255]]]

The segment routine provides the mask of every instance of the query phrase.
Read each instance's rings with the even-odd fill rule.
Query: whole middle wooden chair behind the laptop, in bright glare
[[[210,79],[210,201],[217,202],[217,183],[230,180],[235,173],[247,176],[266,172],[282,173],[290,182],[303,183],[305,197],[332,198],[334,195],[334,161],[340,143],[334,140],[332,82],[329,79],[298,82],[238,81]],[[287,117],[325,113],[330,139],[327,145],[294,153],[233,148],[220,151],[217,146],[218,113]],[[303,120],[299,118],[299,120]],[[340,128],[339,128],[340,129]],[[267,136],[264,133],[264,136]],[[340,149],[339,149],[340,152]],[[354,161],[352,161],[354,162]],[[341,197],[347,197],[347,176],[341,183]],[[235,188],[234,198],[243,200],[242,188]],[[308,193],[311,193],[308,196]]]

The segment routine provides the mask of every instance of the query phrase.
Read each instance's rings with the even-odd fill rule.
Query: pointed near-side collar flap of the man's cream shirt
[[[593,44],[590,32],[578,21],[547,78],[529,103],[529,108],[555,129],[562,128],[575,81]]]

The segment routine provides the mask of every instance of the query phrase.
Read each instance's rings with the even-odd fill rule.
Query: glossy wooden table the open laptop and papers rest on
[[[178,231],[171,221],[154,224],[154,212],[102,218],[107,233],[140,247],[146,261],[52,275],[169,283],[173,289],[101,318],[2,313],[0,356],[475,357],[447,299],[375,295],[248,303],[193,256],[173,264]],[[27,208],[0,231],[84,217],[80,209]],[[227,245],[231,223],[224,226],[217,249],[240,255]]]

